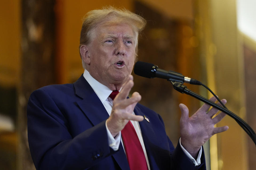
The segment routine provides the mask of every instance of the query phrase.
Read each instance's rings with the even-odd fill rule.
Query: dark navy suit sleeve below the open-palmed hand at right
[[[164,124],[163,119],[160,115],[159,115],[159,119],[161,120],[162,124]],[[206,170],[205,155],[203,150],[202,150],[202,156],[201,156],[201,164],[198,166],[195,166],[193,162],[183,152],[179,142],[176,148],[174,149],[173,143],[170,141],[169,137],[167,138],[168,138],[168,143],[170,148],[170,169],[171,170]]]

